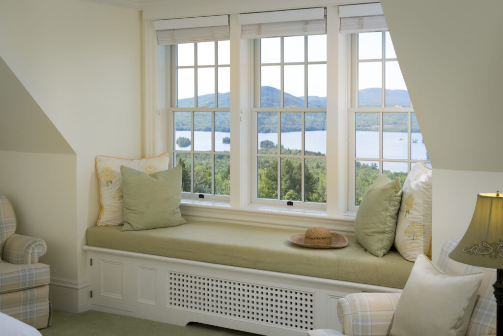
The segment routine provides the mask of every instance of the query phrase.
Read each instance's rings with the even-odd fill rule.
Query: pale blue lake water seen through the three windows
[[[179,137],[191,138],[189,130],[178,130],[175,139]],[[228,132],[215,132],[215,152],[229,152],[230,144],[224,144],[222,139],[230,137]],[[421,133],[411,133],[411,159],[428,160],[426,147],[423,143]],[[264,140],[278,144],[278,133],[259,133],[258,143]],[[281,133],[281,143],[287,149],[301,149],[301,132]],[[190,147],[182,148],[175,144],[176,150],[190,150]],[[194,150],[211,151],[211,132],[194,131]],[[326,154],[326,130],[312,130],[305,132],[305,150]],[[407,159],[407,133],[405,132],[383,132],[383,158],[384,159]],[[356,131],[356,157],[362,159],[379,158],[379,132]],[[401,162],[386,162],[383,166],[386,170],[404,171],[404,164]],[[406,171],[406,168],[405,168]]]

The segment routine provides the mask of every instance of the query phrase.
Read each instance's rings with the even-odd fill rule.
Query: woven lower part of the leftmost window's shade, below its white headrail
[[[169,29],[157,31],[157,43],[179,44],[228,40],[229,26]]]

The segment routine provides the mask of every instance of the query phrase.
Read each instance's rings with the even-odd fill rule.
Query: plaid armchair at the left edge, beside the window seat
[[[0,195],[0,312],[37,329],[50,325],[49,265],[39,263],[47,245],[16,231],[16,216]]]

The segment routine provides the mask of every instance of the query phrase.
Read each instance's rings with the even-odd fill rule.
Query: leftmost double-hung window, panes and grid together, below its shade
[[[173,46],[173,153],[182,191],[230,195],[229,41]]]

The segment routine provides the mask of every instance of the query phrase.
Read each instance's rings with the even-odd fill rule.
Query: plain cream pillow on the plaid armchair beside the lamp
[[[417,256],[396,305],[391,336],[464,336],[483,274],[446,275]]]

